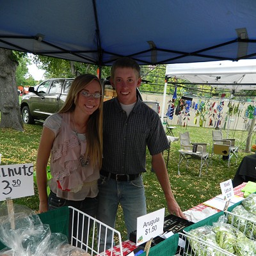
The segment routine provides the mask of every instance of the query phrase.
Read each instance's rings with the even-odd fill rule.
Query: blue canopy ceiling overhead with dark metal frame
[[[254,0],[1,0],[0,47],[96,65],[256,58]]]

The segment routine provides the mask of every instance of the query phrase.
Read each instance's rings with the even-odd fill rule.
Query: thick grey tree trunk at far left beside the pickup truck
[[[15,77],[17,65],[13,52],[0,48],[0,128],[24,131]]]

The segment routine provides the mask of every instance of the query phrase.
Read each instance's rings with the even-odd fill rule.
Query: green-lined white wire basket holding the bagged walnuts
[[[112,236],[110,250],[114,246],[122,244],[120,232],[74,207],[60,207],[38,214],[38,216],[42,223],[49,225],[51,233],[64,234],[68,237],[70,244],[78,248],[83,248],[90,255],[107,255],[105,252],[100,252],[99,238],[97,237],[97,232],[102,232],[103,229],[105,236],[103,247],[105,250],[107,232]],[[87,230],[84,229],[86,226],[88,226]],[[1,243],[0,249],[3,248],[6,248],[6,246]],[[122,246],[120,246],[120,256],[123,256]]]

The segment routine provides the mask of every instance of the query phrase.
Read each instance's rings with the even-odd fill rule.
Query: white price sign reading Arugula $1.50
[[[136,246],[163,233],[164,208],[137,218]]]

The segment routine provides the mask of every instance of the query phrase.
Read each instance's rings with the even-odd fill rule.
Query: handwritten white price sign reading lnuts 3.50
[[[33,164],[0,166],[0,201],[35,195]]]

